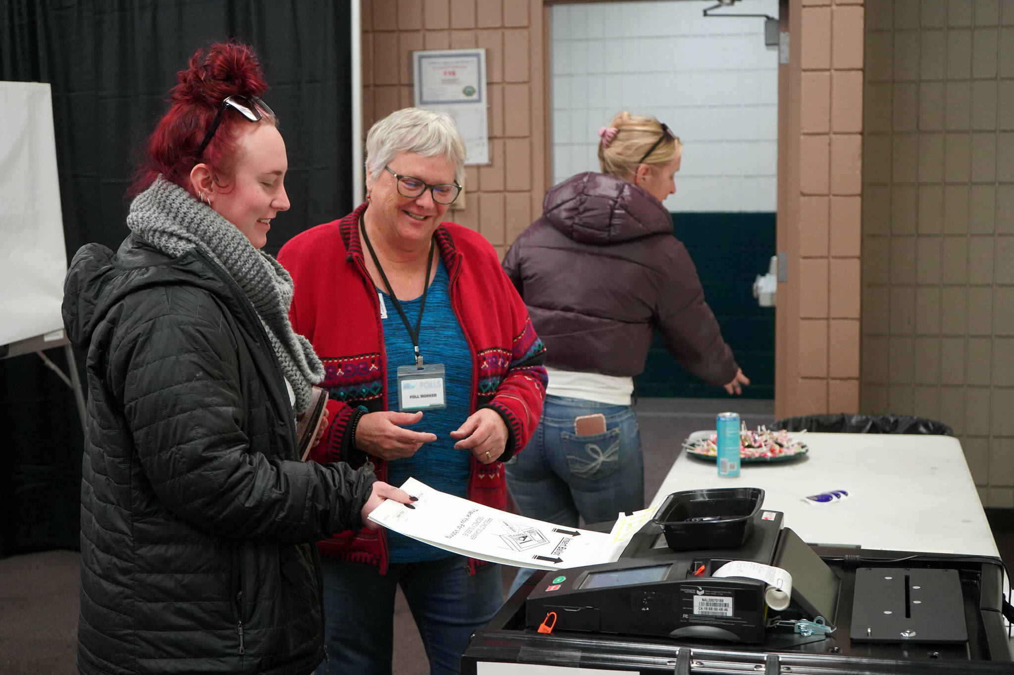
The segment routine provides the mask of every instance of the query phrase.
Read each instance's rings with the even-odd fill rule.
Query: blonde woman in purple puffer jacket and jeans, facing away
[[[729,394],[749,384],[662,205],[676,191],[679,139],[629,112],[599,137],[602,172],[551,188],[542,217],[503,262],[546,344],[550,378],[541,421],[507,462],[507,483],[523,515],[570,527],[579,516],[594,523],[644,508],[631,397],[656,329],[705,382]],[[604,432],[575,433],[575,418],[598,413]]]

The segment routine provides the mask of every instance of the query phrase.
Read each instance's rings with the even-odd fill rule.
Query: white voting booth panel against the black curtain
[[[0,82],[0,358],[35,352],[84,398],[60,304],[67,273],[50,85]],[[63,347],[69,373],[45,350]]]

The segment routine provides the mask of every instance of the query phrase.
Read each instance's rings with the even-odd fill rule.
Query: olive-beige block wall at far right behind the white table
[[[1014,2],[867,3],[862,407],[1014,507]]]

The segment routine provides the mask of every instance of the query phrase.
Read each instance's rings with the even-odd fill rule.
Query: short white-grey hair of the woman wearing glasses
[[[454,163],[454,180],[464,180],[464,141],[446,112],[402,108],[375,122],[366,135],[366,170],[376,179],[395,156],[406,152],[446,157]]]

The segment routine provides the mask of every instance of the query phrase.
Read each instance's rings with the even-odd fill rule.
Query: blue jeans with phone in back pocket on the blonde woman
[[[601,413],[605,433],[578,436],[574,418]],[[632,406],[547,396],[538,428],[506,463],[507,487],[521,515],[577,527],[644,508],[641,431]],[[531,571],[518,573],[511,593]]]

